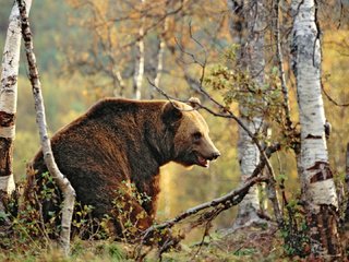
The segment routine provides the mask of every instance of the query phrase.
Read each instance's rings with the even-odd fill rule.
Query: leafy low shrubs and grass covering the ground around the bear
[[[40,184],[29,183],[31,191],[20,186],[11,198],[2,198],[5,213],[0,213],[0,262],[17,261],[135,261],[140,259],[137,245],[128,241],[137,229],[130,218],[130,210],[124,191],[119,189],[115,209],[117,219],[122,221],[124,238],[112,235],[111,217],[106,215],[98,221],[93,217],[94,207],[75,204],[72,221],[71,255],[65,258],[59,250],[56,239],[60,233],[61,214],[58,210],[43,215],[43,206],[55,203],[59,206],[61,195],[48,174],[43,174]],[[149,201],[129,186],[132,196],[140,204]],[[34,190],[33,190],[34,189]],[[36,193],[39,192],[39,193]],[[130,192],[130,191],[129,191]],[[142,216],[142,214],[141,214]],[[142,217],[140,217],[142,218]],[[299,218],[299,217],[298,217]],[[242,228],[232,234],[209,233],[197,243],[181,243],[159,257],[157,248],[144,247],[144,261],[293,261],[299,258],[294,245],[286,247],[284,240],[292,239],[290,226],[279,231],[270,228]],[[293,227],[294,229],[294,227]],[[281,234],[280,234],[281,233]],[[284,237],[284,239],[282,239]],[[289,257],[286,257],[289,255]],[[292,257],[292,259],[288,259]]]

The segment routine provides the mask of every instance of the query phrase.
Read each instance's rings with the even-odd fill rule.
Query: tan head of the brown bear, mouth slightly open
[[[163,109],[163,121],[174,132],[173,162],[183,166],[208,167],[210,160],[220,156],[206,121],[196,110],[198,106],[197,98],[190,98],[188,103],[168,102]]]

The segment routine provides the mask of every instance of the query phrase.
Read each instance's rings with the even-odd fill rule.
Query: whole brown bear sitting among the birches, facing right
[[[169,162],[208,167],[220,155],[195,108],[197,103],[197,98],[188,104],[106,98],[59,130],[51,139],[53,156],[76,200],[94,206],[94,217],[118,217],[115,200],[118,190],[125,189],[122,201],[131,212],[129,218],[140,230],[149,227],[159,193],[159,167]],[[47,171],[41,151],[33,167],[37,177]],[[135,199],[129,183],[149,201]],[[43,207],[44,215],[52,209],[47,203]],[[121,234],[124,222],[113,223]]]

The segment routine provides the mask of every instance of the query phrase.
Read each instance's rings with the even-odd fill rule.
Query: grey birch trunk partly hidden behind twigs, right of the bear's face
[[[260,32],[264,26],[263,1],[252,3],[251,1],[231,1],[228,0],[228,5],[233,12],[233,20],[230,26],[234,40],[241,45],[240,59],[243,61],[242,67],[254,76],[255,83],[263,85],[264,83],[264,34]],[[246,39],[244,39],[246,35]],[[255,133],[262,124],[262,117],[249,117],[251,111],[243,105],[239,106],[240,119],[244,126]],[[241,181],[245,182],[260,162],[260,151],[250,135],[239,128],[239,163]],[[238,215],[236,217],[233,228],[244,227],[254,223],[260,223],[262,219],[258,216],[261,211],[261,202],[258,198],[258,188],[253,186],[249,193],[239,204]]]

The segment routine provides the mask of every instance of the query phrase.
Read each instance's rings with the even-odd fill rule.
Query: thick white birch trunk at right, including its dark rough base
[[[324,132],[321,41],[314,0],[293,0],[292,70],[301,123],[300,179],[312,257],[339,259],[338,201]]]

